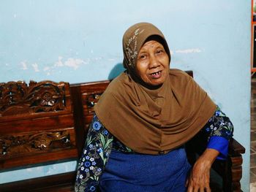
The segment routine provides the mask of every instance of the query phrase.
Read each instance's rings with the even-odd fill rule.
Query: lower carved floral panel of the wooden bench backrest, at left
[[[71,147],[68,131],[48,131],[18,136],[5,135],[0,137],[0,158],[66,147]]]

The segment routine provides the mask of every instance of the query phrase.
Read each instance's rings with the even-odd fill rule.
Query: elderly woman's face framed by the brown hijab
[[[157,86],[165,82],[169,74],[169,57],[162,44],[151,40],[140,48],[136,73],[147,85]]]

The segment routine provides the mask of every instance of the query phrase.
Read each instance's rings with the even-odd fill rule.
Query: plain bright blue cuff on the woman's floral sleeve
[[[212,136],[208,141],[207,148],[219,151],[217,159],[225,160],[227,158],[228,140],[224,137]]]

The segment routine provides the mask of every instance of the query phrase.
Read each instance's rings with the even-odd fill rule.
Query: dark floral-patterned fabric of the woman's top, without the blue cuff
[[[225,113],[217,107],[214,115],[201,131],[206,133],[208,139],[217,136],[229,140],[233,136],[233,124]],[[97,191],[99,177],[104,172],[112,149],[122,153],[135,153],[118,141],[116,137],[113,137],[94,115],[86,137],[86,145],[78,164],[75,191]]]

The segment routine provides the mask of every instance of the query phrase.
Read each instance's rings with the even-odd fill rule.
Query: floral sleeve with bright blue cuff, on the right
[[[208,134],[207,148],[219,151],[217,159],[225,159],[228,153],[228,143],[233,136],[233,124],[219,107],[214,115],[208,120],[204,131]]]

